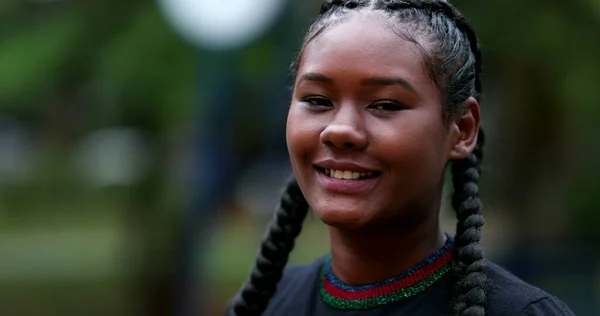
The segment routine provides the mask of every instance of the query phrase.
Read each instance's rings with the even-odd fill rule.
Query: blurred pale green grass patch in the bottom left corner
[[[132,315],[120,218],[98,205],[2,218],[0,315]]]

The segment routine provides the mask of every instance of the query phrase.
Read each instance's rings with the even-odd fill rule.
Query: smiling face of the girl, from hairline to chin
[[[299,64],[288,150],[309,205],[334,227],[439,207],[446,163],[462,158],[460,128],[444,124],[422,52],[386,19],[350,13],[306,45]]]

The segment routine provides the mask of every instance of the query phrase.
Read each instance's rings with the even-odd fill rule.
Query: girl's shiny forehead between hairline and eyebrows
[[[400,76],[415,84],[428,83],[419,47],[397,34],[384,13],[351,12],[306,45],[300,72],[344,76]]]

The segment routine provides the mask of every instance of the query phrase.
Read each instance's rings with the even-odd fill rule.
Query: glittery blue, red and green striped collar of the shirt
[[[329,257],[321,269],[321,300],[335,309],[365,310],[415,296],[450,271],[453,239],[447,237],[442,248],[409,270],[385,281],[368,285],[354,286],[340,281],[331,271]]]

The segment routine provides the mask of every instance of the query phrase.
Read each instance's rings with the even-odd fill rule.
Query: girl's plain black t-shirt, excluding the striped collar
[[[287,267],[263,316],[383,316],[449,315],[446,276],[424,292],[371,310],[336,310],[320,299],[324,258],[308,265]],[[486,271],[486,316],[570,316],[573,312],[556,297],[520,280],[489,262]]]

